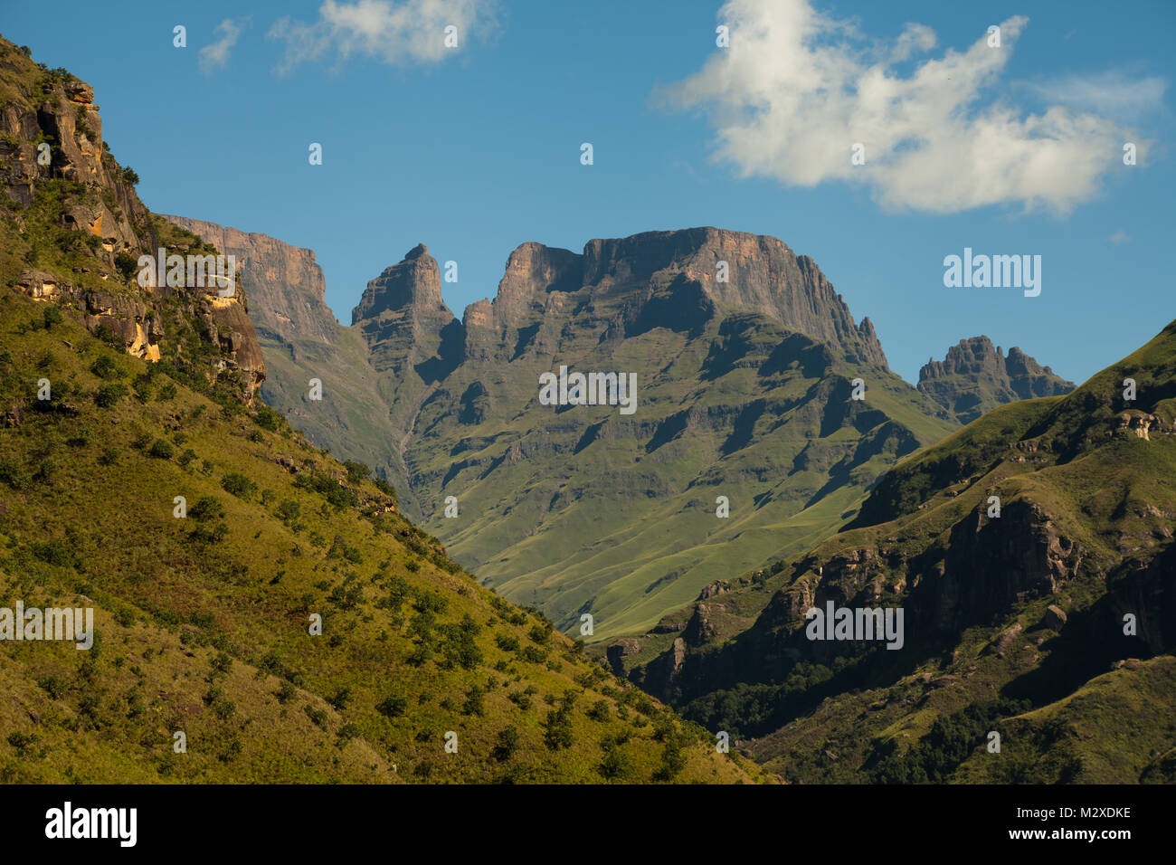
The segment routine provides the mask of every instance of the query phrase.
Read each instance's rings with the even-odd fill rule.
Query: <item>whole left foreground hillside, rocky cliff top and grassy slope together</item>
[[[0,641],[0,780],[761,777],[256,402],[243,297],[136,285],[120,253],[205,247],[138,201],[86,85],[0,51],[0,607],[96,630]]]

